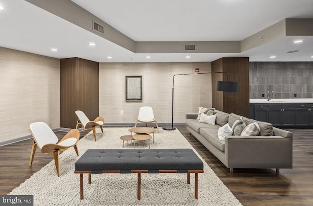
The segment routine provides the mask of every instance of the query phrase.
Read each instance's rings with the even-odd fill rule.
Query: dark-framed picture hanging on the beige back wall
[[[142,102],[142,76],[126,76],[126,102]]]

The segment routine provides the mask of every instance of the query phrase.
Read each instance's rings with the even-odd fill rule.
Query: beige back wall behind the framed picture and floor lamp
[[[172,122],[174,74],[211,71],[211,62],[100,63],[99,115],[106,124],[134,124],[141,106],[152,106],[158,123]],[[126,103],[125,76],[142,76],[142,103]],[[184,123],[185,114],[198,107],[211,106],[211,74],[176,76],[174,84],[174,123]],[[120,114],[120,110],[124,114]]]

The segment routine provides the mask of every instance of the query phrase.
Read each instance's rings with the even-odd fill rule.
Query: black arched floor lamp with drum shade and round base
[[[179,75],[199,75],[199,74],[218,74],[218,73],[226,73],[226,81],[217,81],[216,82],[216,90],[222,92],[238,92],[238,84],[239,82],[228,82],[228,72],[204,72],[204,73],[190,73],[190,74],[175,74],[173,75],[173,88],[172,88],[172,125],[171,126],[163,126],[164,130],[175,130],[176,127],[173,125],[174,123],[174,79],[175,76]]]

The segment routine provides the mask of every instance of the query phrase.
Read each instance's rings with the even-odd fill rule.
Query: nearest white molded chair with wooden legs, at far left
[[[43,122],[29,124],[28,127],[31,135],[34,138],[33,146],[30,153],[29,166],[31,166],[33,163],[37,146],[40,151],[45,154],[53,153],[54,163],[57,169],[58,176],[60,176],[59,155],[61,151],[64,151],[73,146],[77,156],[79,156],[76,145],[79,141],[78,129],[70,130],[59,142],[58,137],[54,134],[52,129]]]

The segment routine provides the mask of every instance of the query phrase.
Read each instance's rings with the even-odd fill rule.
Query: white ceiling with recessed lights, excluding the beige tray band
[[[134,41],[242,41],[283,19],[313,18],[313,0],[72,1]],[[250,62],[313,61],[312,36],[289,36],[242,53],[135,54],[27,1],[0,0],[0,5],[4,7],[0,10],[1,47],[54,58],[80,57],[96,62],[211,62],[221,57],[249,57]],[[292,43],[297,39],[304,42]],[[89,42],[97,45],[91,47]],[[287,53],[291,50],[299,52]],[[186,59],[187,55],[191,58]],[[269,59],[272,55],[277,57]]]

